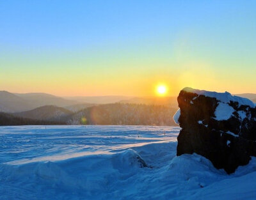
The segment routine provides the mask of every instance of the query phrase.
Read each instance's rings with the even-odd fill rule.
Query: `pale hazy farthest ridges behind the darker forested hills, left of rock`
[[[69,96],[60,97],[46,93],[10,93],[0,91],[0,112],[23,112],[42,107],[55,105],[77,112],[86,107],[97,104],[154,104],[172,105],[177,107],[176,97],[132,97],[132,96]]]

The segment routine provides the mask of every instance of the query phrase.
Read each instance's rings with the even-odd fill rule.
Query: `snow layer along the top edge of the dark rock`
[[[223,103],[230,103],[232,102],[238,102],[239,105],[249,105],[250,107],[255,107],[255,104],[249,100],[248,98],[243,98],[240,96],[233,96],[227,91],[225,93],[217,93],[216,91],[205,91],[205,90],[200,90],[200,89],[193,89],[193,88],[184,88],[182,89],[183,91],[189,92],[189,93],[196,93],[197,95],[204,95],[212,98],[216,98],[220,102]]]

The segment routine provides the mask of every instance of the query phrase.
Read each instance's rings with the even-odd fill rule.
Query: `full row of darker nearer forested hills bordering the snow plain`
[[[56,112],[58,109],[58,112]],[[60,112],[61,111],[61,112]],[[177,107],[145,104],[102,104],[78,112],[54,106],[7,114],[0,112],[0,125],[157,125],[176,126],[172,116]],[[57,113],[57,114],[56,114]]]

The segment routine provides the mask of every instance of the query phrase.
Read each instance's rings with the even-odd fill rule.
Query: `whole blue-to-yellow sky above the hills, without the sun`
[[[0,1],[0,90],[256,93],[256,1]]]

